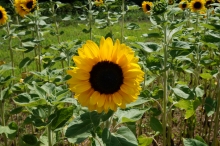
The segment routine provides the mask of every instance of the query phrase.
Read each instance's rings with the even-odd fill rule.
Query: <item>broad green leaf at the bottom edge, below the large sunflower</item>
[[[106,146],[137,146],[137,139],[132,131],[127,127],[120,127],[116,133],[110,133],[108,129],[104,129],[102,140]]]

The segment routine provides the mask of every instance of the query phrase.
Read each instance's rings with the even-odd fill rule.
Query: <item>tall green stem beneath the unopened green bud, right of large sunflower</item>
[[[167,20],[166,14],[164,14],[164,20]],[[167,137],[166,137],[166,125],[167,125],[167,96],[168,96],[168,91],[167,91],[167,80],[168,80],[168,71],[166,69],[167,67],[167,58],[168,58],[168,42],[167,42],[167,26],[164,26],[164,73],[163,73],[163,120],[162,120],[162,126],[163,126],[163,146],[166,146],[167,144]],[[169,139],[168,139],[169,141]]]

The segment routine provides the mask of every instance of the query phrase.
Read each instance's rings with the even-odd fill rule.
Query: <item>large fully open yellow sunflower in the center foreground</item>
[[[134,52],[119,40],[101,38],[100,46],[88,40],[74,56],[76,67],[67,81],[82,106],[90,111],[116,111],[137,99],[144,72]]]

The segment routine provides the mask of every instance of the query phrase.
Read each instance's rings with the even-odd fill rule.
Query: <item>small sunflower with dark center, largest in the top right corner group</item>
[[[205,0],[192,0],[189,7],[192,12],[205,11]]]

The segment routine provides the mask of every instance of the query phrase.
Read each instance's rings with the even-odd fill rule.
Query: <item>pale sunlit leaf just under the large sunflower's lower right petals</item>
[[[118,117],[119,123],[136,122],[143,116],[145,112],[146,109],[119,109],[115,113],[115,116]]]

